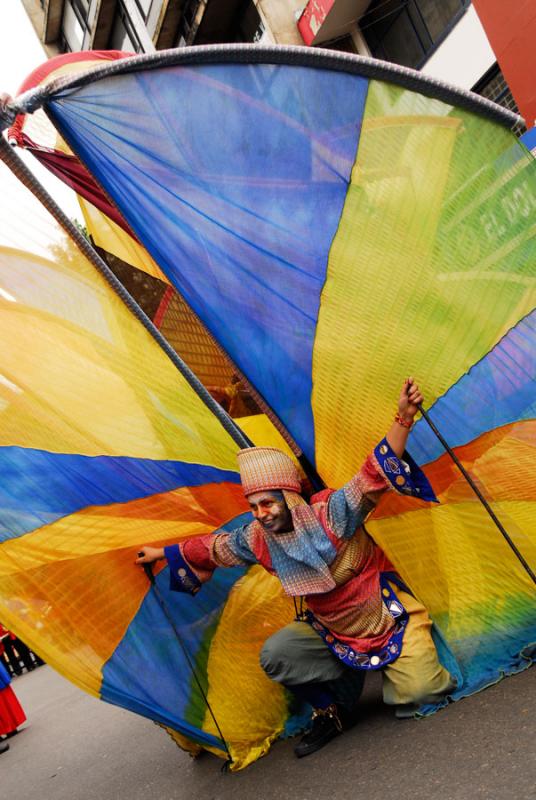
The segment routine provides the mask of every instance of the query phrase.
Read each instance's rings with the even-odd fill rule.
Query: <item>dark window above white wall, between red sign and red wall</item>
[[[361,31],[375,58],[420,67],[470,5],[470,0],[373,0]]]

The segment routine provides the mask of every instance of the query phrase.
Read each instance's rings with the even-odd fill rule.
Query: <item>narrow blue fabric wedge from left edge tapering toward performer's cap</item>
[[[237,472],[180,461],[0,448],[0,542],[87,506],[126,503],[181,486],[240,483]]]

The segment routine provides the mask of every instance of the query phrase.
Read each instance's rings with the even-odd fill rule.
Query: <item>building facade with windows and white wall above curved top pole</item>
[[[150,53],[221,42],[305,44],[419,69],[518,110],[471,0],[22,2],[48,55]]]

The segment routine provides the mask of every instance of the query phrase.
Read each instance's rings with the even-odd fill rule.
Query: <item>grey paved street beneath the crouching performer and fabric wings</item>
[[[231,775],[192,760],[151,722],[89,697],[49,667],[13,682],[27,727],[0,757],[14,800],[513,800],[536,798],[536,669],[426,720],[397,721],[377,676],[363,722],[298,761],[291,742]]]

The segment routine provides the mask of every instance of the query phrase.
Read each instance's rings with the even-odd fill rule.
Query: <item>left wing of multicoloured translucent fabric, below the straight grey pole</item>
[[[149,541],[241,522],[237,446],[95,268],[8,178],[0,619],[86,691],[165,725],[182,746],[225,756],[134,559]],[[166,593],[167,573],[157,575]],[[243,569],[222,571],[200,602],[168,603],[234,767],[244,766],[298,723],[257,658],[266,632],[292,619],[292,604],[273,578]],[[229,674],[228,648],[247,686]]]

